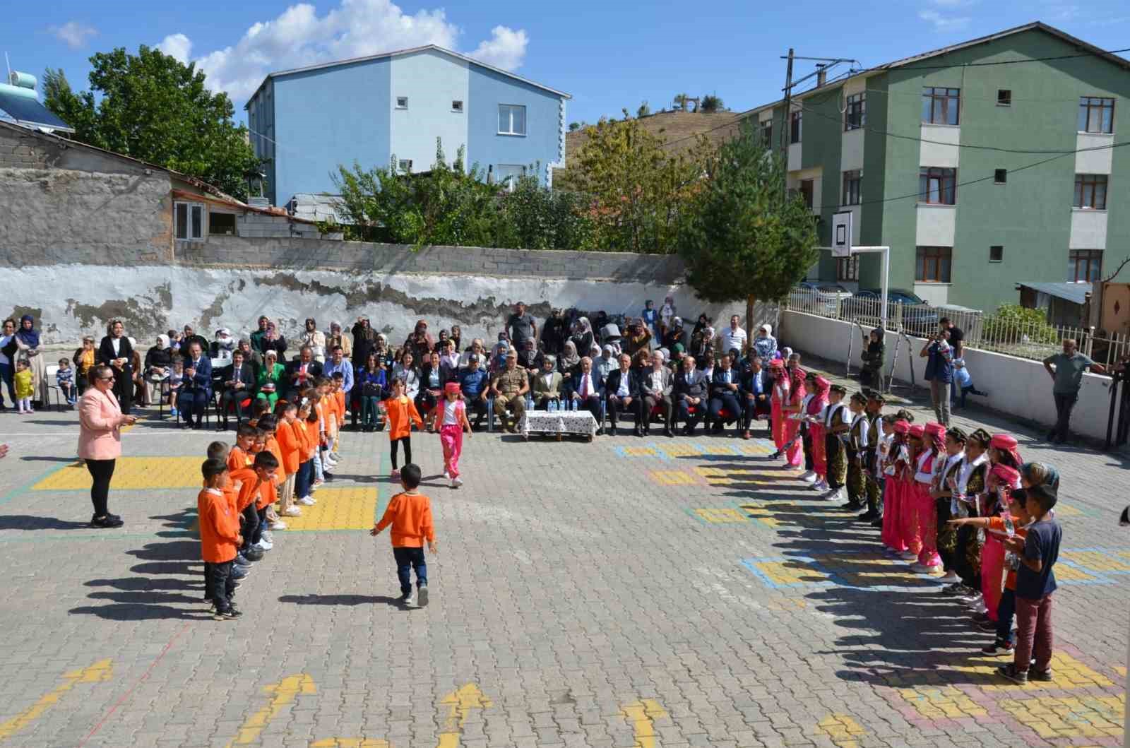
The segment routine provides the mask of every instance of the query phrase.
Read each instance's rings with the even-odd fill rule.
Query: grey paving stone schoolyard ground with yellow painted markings
[[[1062,473],[1052,684],[997,679],[965,609],[771,463],[764,429],[477,433],[459,490],[414,435],[440,554],[412,610],[365,531],[394,489],[388,437],[347,433],[337,480],[240,589],[244,617],[218,623],[193,531],[216,433],[130,429],[127,524],[103,531],[75,415],[3,415],[0,745],[1119,745],[1127,461],[977,423]]]

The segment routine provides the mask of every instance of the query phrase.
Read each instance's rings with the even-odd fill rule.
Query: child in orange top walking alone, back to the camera
[[[409,462],[400,472],[403,493],[397,494],[384,510],[384,516],[370,532],[374,538],[384,528],[392,525],[392,556],[397,559],[397,576],[400,579],[400,603],[416,602],[412,595],[411,569],[416,569],[416,589],[419,603],[427,605],[427,564],[424,562],[424,541],[428,550],[436,553],[435,527],[432,523],[432,499],[419,493],[419,466]]]

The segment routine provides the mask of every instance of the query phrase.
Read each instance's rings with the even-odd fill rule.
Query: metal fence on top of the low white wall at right
[[[863,329],[879,327],[883,319],[879,299],[845,294],[814,293],[793,288],[784,306],[832,320],[859,324]],[[887,302],[887,330],[925,337],[938,330],[941,318],[965,333],[964,346],[991,350],[1020,358],[1042,360],[1063,348],[1063,340],[1074,339],[1080,351],[1096,363],[1111,366],[1130,354],[1130,336],[1102,334],[1094,328],[1070,328],[1042,321],[1018,320],[1010,315],[984,314],[980,311],[950,310],[929,304]]]

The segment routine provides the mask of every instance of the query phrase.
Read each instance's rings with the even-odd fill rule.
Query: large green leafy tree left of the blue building
[[[81,142],[183,172],[241,199],[260,159],[232,101],[205,87],[195,63],[141,45],[90,58],[90,88],[76,94],[61,70],[44,73],[44,104]]]

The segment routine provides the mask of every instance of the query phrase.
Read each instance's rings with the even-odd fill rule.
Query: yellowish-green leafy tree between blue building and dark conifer
[[[709,143],[699,138],[689,151],[673,151],[632,119],[601,119],[588,136],[557,188],[584,200],[597,245],[607,252],[673,252]]]

